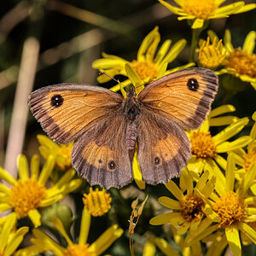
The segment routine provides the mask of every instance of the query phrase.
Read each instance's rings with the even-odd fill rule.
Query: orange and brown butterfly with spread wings
[[[131,87],[132,88],[132,87]],[[120,188],[131,183],[137,144],[146,183],[168,183],[191,155],[184,130],[206,119],[218,76],[204,68],[168,74],[126,98],[88,84],[55,84],[33,91],[29,105],[57,143],[76,140],[73,167],[91,185]]]

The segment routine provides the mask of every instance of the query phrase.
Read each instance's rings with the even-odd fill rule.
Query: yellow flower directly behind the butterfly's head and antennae
[[[172,73],[179,69],[185,67],[192,67],[195,64],[189,63],[183,67],[177,67],[173,70],[166,70],[168,63],[172,62],[177,55],[183,50],[186,45],[186,40],[179,40],[170,49],[172,41],[170,39],[166,40],[164,44],[160,47],[156,53],[156,49],[160,43],[160,33],[158,32],[158,27],[154,27],[152,32],[149,32],[146,38],[144,38],[143,43],[137,52],[137,60],[126,61],[115,55],[107,55],[102,53],[103,58],[98,59],[92,63],[92,67],[99,69],[102,73],[107,73],[110,77],[114,77],[118,74],[127,76],[125,70],[125,64],[130,64],[132,69],[137,73],[140,79],[140,85],[148,84],[154,79],[159,79],[160,77],[166,75],[167,73]],[[102,74],[98,77],[99,83],[108,82],[111,78]],[[122,82],[125,86],[131,84],[131,80],[127,79]],[[136,85],[136,84],[134,84]],[[111,90],[119,90],[119,84],[115,85]]]

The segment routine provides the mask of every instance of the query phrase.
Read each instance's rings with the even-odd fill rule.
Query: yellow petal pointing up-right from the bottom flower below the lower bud
[[[97,255],[102,254],[105,250],[108,249],[108,247],[113,244],[116,239],[122,236],[123,232],[124,230],[118,229],[118,225],[113,225],[90,245],[90,250],[92,252],[96,252]]]

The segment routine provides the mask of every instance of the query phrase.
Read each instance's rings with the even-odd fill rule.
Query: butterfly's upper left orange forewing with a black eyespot
[[[122,96],[87,84],[55,84],[29,96],[33,115],[57,143],[70,143],[95,122],[118,109]]]

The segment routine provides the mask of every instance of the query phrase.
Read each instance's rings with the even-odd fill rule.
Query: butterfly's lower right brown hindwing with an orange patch
[[[189,138],[172,119],[144,109],[137,119],[138,162],[143,181],[168,183],[187,165]]]

